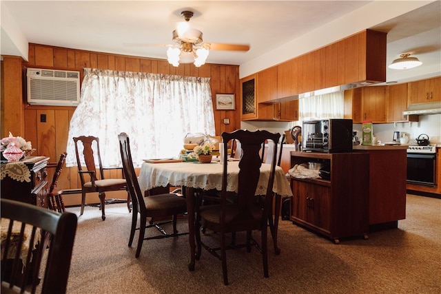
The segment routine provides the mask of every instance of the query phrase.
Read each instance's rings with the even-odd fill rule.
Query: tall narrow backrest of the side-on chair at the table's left
[[[144,213],[145,202],[141,187],[139,187],[138,178],[133,166],[132,153],[130,152],[130,139],[125,133],[118,135],[119,149],[121,151],[121,160],[123,162],[123,171],[125,180],[127,181],[127,188],[132,196],[133,213]]]

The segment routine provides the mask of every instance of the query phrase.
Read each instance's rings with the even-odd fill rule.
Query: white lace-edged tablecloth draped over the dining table
[[[237,192],[238,162],[228,162],[227,191]],[[185,186],[198,189],[222,190],[222,165],[218,162],[143,162],[139,174],[139,186],[142,191],[154,187]],[[260,167],[260,176],[256,195],[264,195],[267,191],[267,182],[271,165],[263,164]],[[280,196],[292,196],[291,187],[281,167],[276,167],[273,185],[274,193]]]

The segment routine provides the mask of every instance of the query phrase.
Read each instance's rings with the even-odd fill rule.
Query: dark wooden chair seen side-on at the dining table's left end
[[[158,195],[144,197],[143,193],[141,192],[141,188],[139,187],[138,178],[133,167],[132,154],[130,152],[130,139],[125,133],[119,134],[118,138],[119,148],[121,151],[121,160],[123,161],[123,170],[127,180],[127,187],[133,202],[132,227],[130,228],[129,247],[132,246],[135,231],[139,230],[138,246],[136,246],[135,253],[135,257],[139,258],[144,240],[170,238],[188,234],[188,232],[178,233],[178,230],[176,229],[178,215],[187,212],[187,202],[185,198],[178,196],[177,193],[161,193]],[[140,215],[140,225],[137,228],[138,214]],[[172,216],[172,220],[153,222],[153,219],[155,218],[163,219],[170,216]],[[147,223],[147,218],[152,218],[152,220]],[[162,224],[168,222],[173,222],[172,234],[167,234],[167,232],[161,228]],[[158,229],[158,231],[161,232],[161,235],[145,238],[145,229],[151,227]]]

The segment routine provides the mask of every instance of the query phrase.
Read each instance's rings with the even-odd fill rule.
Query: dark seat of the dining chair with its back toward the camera
[[[201,218],[207,220],[208,222],[212,222],[214,224],[220,223],[220,205],[207,205],[200,208],[201,209]],[[250,207],[250,212],[252,217],[255,220],[260,220],[262,218],[263,210],[258,204],[252,204]],[[235,218],[239,216],[238,207],[234,204],[227,204],[225,210],[225,222],[232,222]]]

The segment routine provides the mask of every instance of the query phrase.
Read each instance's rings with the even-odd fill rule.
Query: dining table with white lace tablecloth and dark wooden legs
[[[139,186],[141,191],[149,191],[156,187],[182,187],[183,194],[187,202],[187,220],[189,228],[190,245],[190,263],[189,270],[194,271],[195,264],[195,216],[194,216],[194,191],[203,190],[222,190],[223,165],[220,162],[212,161],[209,163],[191,162],[147,162],[144,160],[139,174]],[[236,160],[228,161],[227,191],[238,191],[238,172],[239,162]],[[271,165],[263,163],[260,167],[260,176],[256,189],[256,196],[266,195],[267,183]],[[274,240],[274,249],[276,254],[280,253],[278,249],[277,227],[278,216],[280,215],[280,197],[292,196],[291,187],[287,176],[281,167],[276,166],[274,174],[273,192],[276,196],[276,205],[274,211],[274,224],[271,227],[271,235]],[[272,211],[271,211],[272,215]],[[271,216],[272,218],[272,216]],[[272,220],[270,221],[272,222]]]

